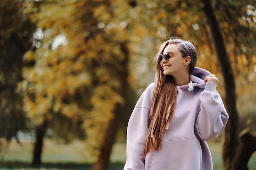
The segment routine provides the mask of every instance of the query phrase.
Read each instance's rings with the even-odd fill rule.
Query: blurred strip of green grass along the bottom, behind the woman
[[[81,141],[73,141],[72,144],[57,143],[45,139],[42,154],[42,168],[33,170],[90,170],[95,158],[85,152],[85,145]],[[219,142],[208,142],[213,158],[214,170],[223,170],[221,158],[221,144]],[[8,148],[2,152],[0,157],[0,170],[32,170],[33,144],[22,142],[18,145],[11,141]],[[110,157],[111,166],[109,170],[123,170],[126,161],[126,145],[115,144]],[[249,160],[249,170],[256,170],[256,153]]]

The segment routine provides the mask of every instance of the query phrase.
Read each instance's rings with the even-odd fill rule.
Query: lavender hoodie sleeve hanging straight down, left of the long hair
[[[144,170],[144,142],[148,131],[148,116],[153,88],[154,84],[148,86],[130,116],[127,127],[126,164],[124,170]]]

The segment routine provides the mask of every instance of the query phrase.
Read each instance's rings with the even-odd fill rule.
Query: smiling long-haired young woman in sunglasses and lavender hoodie
[[[171,38],[155,56],[155,83],[139,98],[127,129],[124,170],[213,170],[207,140],[229,118],[218,78],[195,67],[189,41]]]

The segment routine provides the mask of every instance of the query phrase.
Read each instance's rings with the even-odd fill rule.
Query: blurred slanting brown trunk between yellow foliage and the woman
[[[128,77],[128,48],[126,43],[121,44],[121,51],[124,53],[125,59],[120,63],[124,70],[119,71],[119,79],[121,82],[121,88],[119,89],[119,94],[126,98],[127,92],[127,77]],[[104,139],[103,146],[101,148],[101,154],[99,155],[98,161],[92,166],[92,170],[107,170],[109,166],[109,160],[111,155],[112,146],[115,142],[115,137],[118,129],[118,123],[121,113],[124,112],[124,106],[117,104],[114,111],[114,118],[110,120],[108,130],[106,131],[106,136]]]

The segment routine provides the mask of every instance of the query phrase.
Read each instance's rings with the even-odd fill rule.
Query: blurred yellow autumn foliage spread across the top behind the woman
[[[18,87],[28,117],[35,126],[58,114],[80,119],[85,142],[92,146],[89,152],[97,155],[115,108],[126,104],[119,74],[127,69],[127,86],[139,96],[154,81],[151,62],[159,44],[169,36],[191,40],[198,51],[197,66],[220,74],[202,14],[197,6],[187,5],[153,0],[142,0],[136,7],[121,0],[25,3],[22,12],[31,13],[31,21],[43,33],[42,39],[34,39],[40,46],[34,45],[23,56],[25,63],[35,62],[23,68],[24,81]],[[249,25],[243,18],[238,20]],[[249,55],[235,53],[238,46],[228,28],[228,23],[220,24],[230,61],[235,63],[232,67],[237,68],[234,75],[238,75],[250,64]],[[249,71],[256,64],[255,55],[249,57],[253,63],[243,77],[252,75]]]

